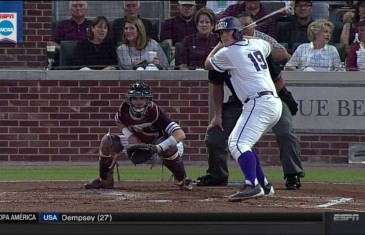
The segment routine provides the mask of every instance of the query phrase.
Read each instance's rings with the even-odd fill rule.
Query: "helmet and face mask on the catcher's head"
[[[129,86],[128,92],[126,94],[127,102],[131,106],[131,113],[136,118],[143,117],[147,111],[152,107],[152,91],[150,86],[144,82],[135,82]],[[147,98],[147,102],[143,107],[134,107],[132,104],[133,98]]]

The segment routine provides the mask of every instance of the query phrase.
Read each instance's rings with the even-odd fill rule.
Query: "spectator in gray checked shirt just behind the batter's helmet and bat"
[[[251,12],[242,12],[240,15],[238,15],[238,18],[240,19],[243,27],[254,22],[254,17]],[[285,47],[269,35],[256,30],[255,27],[244,28],[243,32],[246,36],[261,38],[270,42],[272,46],[271,55],[275,61],[282,62],[281,64],[285,65],[285,63],[290,59],[291,55],[288,53]]]

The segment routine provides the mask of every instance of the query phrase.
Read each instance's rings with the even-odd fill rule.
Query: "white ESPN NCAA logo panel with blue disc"
[[[17,13],[0,13],[0,42],[16,43]]]

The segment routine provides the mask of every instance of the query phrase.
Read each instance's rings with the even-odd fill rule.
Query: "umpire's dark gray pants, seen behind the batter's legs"
[[[222,132],[218,127],[209,130],[205,136],[205,145],[208,153],[208,169],[214,179],[227,179],[229,157],[227,139],[232,132],[239,116],[242,113],[242,104],[239,101],[231,101],[223,104]],[[299,140],[294,134],[292,115],[289,108],[283,102],[283,110],[279,121],[272,128],[280,149],[280,161],[283,165],[284,175],[303,172],[300,161]]]

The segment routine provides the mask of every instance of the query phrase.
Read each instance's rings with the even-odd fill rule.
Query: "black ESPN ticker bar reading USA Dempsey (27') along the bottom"
[[[0,234],[364,234],[365,213],[0,212],[0,226]]]

